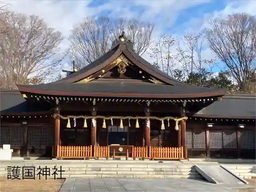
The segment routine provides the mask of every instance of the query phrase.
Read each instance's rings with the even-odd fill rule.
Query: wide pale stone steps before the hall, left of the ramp
[[[203,179],[194,164],[166,161],[30,160],[0,162],[0,177],[7,177],[7,166],[34,166],[37,169],[62,168],[62,178],[197,178]],[[37,174],[38,171],[35,170]],[[21,176],[22,177],[22,176]]]

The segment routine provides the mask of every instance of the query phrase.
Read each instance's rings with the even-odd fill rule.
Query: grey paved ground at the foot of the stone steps
[[[242,186],[240,186],[242,187]],[[155,191],[212,191],[212,192],[231,192],[236,191],[230,186],[221,184],[211,184],[205,181],[191,179],[87,179],[87,178],[69,178],[62,185],[60,192],[155,192]]]

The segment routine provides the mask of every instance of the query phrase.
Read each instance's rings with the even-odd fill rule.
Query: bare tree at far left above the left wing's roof
[[[56,71],[58,45],[62,37],[37,16],[8,12],[10,30],[0,43],[1,87],[15,89],[17,83],[42,82]],[[32,79],[32,80],[29,80]]]

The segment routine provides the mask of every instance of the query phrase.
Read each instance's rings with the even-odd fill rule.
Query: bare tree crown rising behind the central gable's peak
[[[122,31],[134,43],[134,50],[143,54],[150,45],[153,29],[153,25],[136,19],[87,18],[75,26],[70,35],[70,49],[76,57],[76,67],[82,68],[108,52]]]

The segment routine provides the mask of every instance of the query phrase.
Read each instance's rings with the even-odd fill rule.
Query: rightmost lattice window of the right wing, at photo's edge
[[[241,149],[253,150],[255,149],[255,135],[251,130],[241,132]]]

